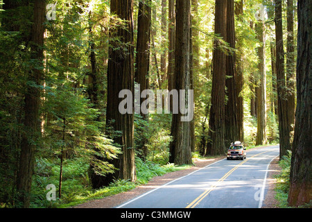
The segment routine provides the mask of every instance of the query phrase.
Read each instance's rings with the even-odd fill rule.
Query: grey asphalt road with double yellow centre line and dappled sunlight
[[[245,160],[220,160],[117,208],[258,208],[279,146],[247,150]]]

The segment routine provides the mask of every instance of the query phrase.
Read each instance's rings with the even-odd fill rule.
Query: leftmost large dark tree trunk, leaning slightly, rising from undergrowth
[[[28,74],[28,82],[25,92],[25,117],[24,126],[26,132],[21,140],[21,155],[19,159],[19,171],[17,174],[17,191],[19,200],[24,207],[30,205],[31,181],[35,164],[35,149],[40,137],[40,85],[43,78],[43,44],[44,44],[44,15],[45,1],[35,0],[33,13],[33,28],[31,30],[31,60],[35,60],[37,65],[31,68]]]

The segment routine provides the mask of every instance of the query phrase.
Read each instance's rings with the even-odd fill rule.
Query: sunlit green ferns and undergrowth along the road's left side
[[[72,207],[89,200],[101,199],[106,196],[119,194],[130,189],[134,189],[139,185],[146,184],[155,176],[162,176],[166,173],[188,169],[191,165],[175,166],[174,164],[156,164],[154,162],[142,161],[136,158],[137,181],[130,182],[128,180],[114,180],[109,186],[101,189],[92,189],[87,169],[89,164],[83,162],[67,162],[64,165],[64,176],[62,182],[62,198],[56,200],[46,200],[47,184],[58,185],[58,167],[53,166],[47,160],[40,160],[37,163],[42,167],[42,174],[36,176],[34,180],[34,195],[31,207]],[[49,171],[47,177],[43,172]],[[56,188],[58,192],[58,187]],[[56,194],[58,196],[58,193]]]

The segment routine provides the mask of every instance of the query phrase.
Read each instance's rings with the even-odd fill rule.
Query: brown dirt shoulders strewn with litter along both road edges
[[[263,146],[262,146],[263,147]],[[262,148],[262,147],[256,147],[252,149]],[[251,149],[250,149],[251,150]],[[115,194],[113,196],[107,196],[102,199],[98,200],[91,200],[86,203],[82,203],[80,205],[74,206],[74,208],[112,208],[116,207],[118,205],[121,205],[122,203],[125,203],[128,200],[131,200],[132,198],[135,198],[141,194],[144,194],[152,189],[155,189],[159,186],[162,186],[166,184],[167,182],[171,182],[172,180],[175,180],[177,178],[180,178],[182,176],[187,176],[189,173],[192,173],[193,171],[197,171],[198,169],[201,169],[203,167],[206,167],[209,164],[212,164],[214,162],[217,162],[219,160],[222,160],[225,158],[224,156],[216,157],[213,159],[196,159],[194,160],[194,166],[189,169],[184,169],[180,171],[174,171],[171,173],[166,173],[163,176],[156,176],[152,180],[150,180],[145,185],[140,185],[139,187],[136,187],[135,189],[132,189],[130,191],[125,191],[120,194]],[[278,165],[279,158],[275,158],[270,164],[270,167],[268,169],[268,177],[267,177],[267,185],[268,185],[268,193],[265,196],[265,199],[263,200],[263,206],[262,208],[275,208],[278,205],[278,201],[275,199],[275,184],[276,179],[274,176],[278,173],[280,173],[281,168]]]

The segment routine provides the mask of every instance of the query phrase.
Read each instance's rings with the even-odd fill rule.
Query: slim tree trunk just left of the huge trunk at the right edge
[[[293,0],[287,0],[287,54],[286,54],[286,86],[288,89],[288,112],[291,130],[295,121],[295,46],[293,33],[294,19]]]

